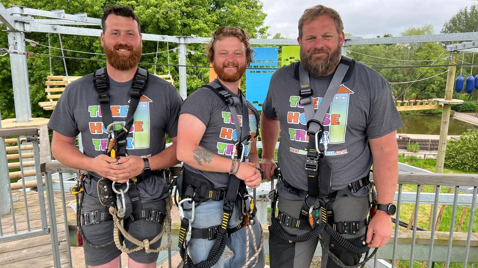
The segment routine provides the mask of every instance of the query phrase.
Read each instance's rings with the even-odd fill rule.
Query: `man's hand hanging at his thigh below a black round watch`
[[[389,241],[391,234],[391,216],[385,211],[377,210],[375,216],[370,220],[367,232],[369,247],[383,247]]]

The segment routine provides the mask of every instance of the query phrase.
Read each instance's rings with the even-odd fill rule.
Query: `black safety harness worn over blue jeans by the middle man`
[[[237,143],[234,144],[231,158],[234,159],[234,157],[236,157],[236,160],[239,162],[245,161],[247,150],[246,145],[249,143],[251,136],[249,134],[249,110],[244,95],[239,93],[239,100],[238,97],[233,97],[216,81],[204,85],[203,88],[212,90],[219,96],[221,101],[228,106],[238,135],[238,140]],[[239,117],[236,112],[237,105],[241,105],[242,107],[241,121],[239,121]],[[242,127],[240,126],[239,122],[242,122]],[[179,252],[181,258],[183,258],[185,268],[209,268],[214,266],[224,252],[228,235],[238,231],[242,227],[248,227],[248,231],[252,233],[252,237],[255,241],[255,234],[252,231],[251,226],[255,223],[253,218],[256,214],[257,208],[254,206],[254,198],[247,192],[244,181],[239,180],[235,175],[230,175],[227,190],[215,189],[212,182],[206,177],[193,174],[187,169],[183,168],[182,176],[179,176],[175,182],[173,182],[173,184],[176,185],[176,191],[179,193],[178,199],[180,201],[177,205],[179,209],[179,215],[181,217],[181,227],[179,230],[178,246],[180,248]],[[242,223],[236,227],[228,228],[230,217],[232,216],[234,210],[235,200],[238,196],[242,200]],[[248,198],[250,198],[250,206],[248,207],[249,209],[246,207],[245,202]],[[221,225],[211,226],[208,228],[193,228],[191,224],[194,221],[195,207],[209,199],[214,201],[224,200]],[[192,204],[191,208],[183,208],[182,205],[185,202]],[[192,216],[189,219],[184,215],[184,211],[186,210],[191,210]],[[247,235],[247,240],[249,242],[249,232],[247,232]],[[214,240],[214,245],[209,251],[206,260],[203,260],[197,264],[195,264],[187,254],[187,249],[191,238]],[[259,261],[258,256],[261,252],[262,244],[263,233],[261,230],[260,247],[255,249],[255,254],[248,259],[248,261],[246,261],[243,267],[247,267],[253,260],[255,260],[255,262],[252,267],[257,264]],[[248,254],[249,243],[247,243],[246,247],[246,254]]]

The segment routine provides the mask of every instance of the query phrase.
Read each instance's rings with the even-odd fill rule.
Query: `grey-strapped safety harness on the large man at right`
[[[377,251],[377,248],[375,248],[375,250],[369,255],[370,248],[368,245],[364,244],[362,247],[356,246],[340,235],[354,234],[363,228],[367,228],[368,222],[367,219],[362,221],[334,221],[332,203],[340,191],[332,191],[332,164],[327,161],[325,157],[328,137],[325,133],[322,122],[335,94],[337,93],[338,87],[342,83],[348,69],[350,67],[353,68],[354,64],[354,60],[342,56],[332,81],[317,108],[317,112],[315,112],[314,103],[312,101],[313,89],[310,86],[309,73],[304,70],[302,65],[298,66],[300,79],[300,104],[304,106],[305,119],[307,120],[307,134],[309,135],[309,143],[304,165],[307,174],[308,190],[300,190],[289,185],[282,177],[280,169],[276,169],[276,176],[279,180],[283,181],[285,187],[305,196],[300,217],[297,219],[281,211],[278,212],[278,216],[276,217],[276,202],[279,197],[277,188],[269,194],[272,201],[271,226],[280,237],[289,240],[289,242],[304,242],[319,237],[322,248],[328,252],[328,255],[338,266],[344,268],[358,268],[364,266]],[[321,140],[323,141],[324,150],[319,148]],[[348,190],[354,193],[362,186],[366,185],[369,185],[369,176],[350,184]],[[285,232],[283,226],[309,231],[305,234],[295,236]],[[331,239],[334,239],[347,250],[357,254],[366,253],[365,259],[354,266],[345,265],[332,252],[330,252],[328,245],[326,245],[322,236],[319,236],[324,229],[330,235]]]

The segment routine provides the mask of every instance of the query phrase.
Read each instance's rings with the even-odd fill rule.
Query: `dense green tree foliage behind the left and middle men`
[[[101,18],[103,10],[109,5],[127,5],[133,8],[141,21],[141,31],[150,34],[190,36],[201,37],[211,36],[211,33],[221,26],[239,26],[250,32],[252,38],[266,38],[267,26],[263,25],[266,14],[262,11],[262,2],[260,0],[6,0],[3,2],[5,7],[11,5],[20,5],[41,10],[64,9],[66,13],[87,13],[89,17]],[[3,27],[3,28],[1,28]],[[82,27],[82,26],[77,26]],[[91,27],[91,26],[84,26]],[[6,30],[4,25],[0,30]],[[97,28],[98,27],[93,27]],[[40,44],[47,45],[47,34],[28,33],[27,39],[37,41]],[[99,37],[62,35],[63,47],[69,50],[103,53]],[[5,31],[0,32],[0,47],[6,47],[8,40]],[[60,47],[58,35],[51,34],[51,43],[53,47]],[[156,42],[143,41],[143,53],[156,51]],[[159,42],[158,51],[166,51],[177,47],[175,43]],[[187,44],[187,50],[195,52],[204,52],[203,44]],[[27,44],[27,51],[40,54],[48,54],[48,49],[42,46],[32,47]],[[188,53],[186,64],[208,66],[204,55],[201,53]],[[52,54],[61,55],[60,50],[52,49]],[[105,59],[104,55],[84,54],[77,52],[65,52],[65,56],[82,57],[92,59]],[[157,63],[167,63],[168,53],[158,54]],[[154,62],[155,54],[143,55],[141,62]],[[169,62],[178,63],[177,51],[169,53]],[[11,82],[10,59],[7,56],[0,57],[0,65],[5,66],[0,70],[0,109],[1,117],[13,118],[15,116],[13,105],[13,91]],[[68,60],[66,59],[66,69],[69,75],[83,76],[94,72],[96,69],[104,66],[104,62],[93,62],[86,60]],[[154,71],[152,65],[140,65],[142,68],[148,68],[150,72]],[[44,93],[44,82],[49,75],[49,61],[47,57],[34,56],[28,58],[28,73],[30,81],[30,95],[32,101],[33,117],[50,117],[51,111],[44,111],[38,106],[38,102],[46,101]],[[18,70],[13,70],[18,72]],[[63,61],[59,58],[52,58],[52,72],[55,75],[65,75]],[[174,85],[179,88],[178,67],[157,66],[158,74],[167,74],[171,72],[174,78]],[[208,82],[208,68],[187,68],[187,91],[192,93],[204,83]],[[242,83],[245,87],[245,82]]]

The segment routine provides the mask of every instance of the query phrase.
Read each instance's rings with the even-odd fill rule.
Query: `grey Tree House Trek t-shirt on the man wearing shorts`
[[[132,79],[128,82],[109,79],[109,102],[114,122],[124,124],[126,121],[131,83]],[[170,137],[177,135],[181,103],[182,99],[172,84],[150,74],[148,87],[140,98],[134,113],[132,130],[127,136],[127,153],[143,158],[163,151],[165,133]],[[75,137],[81,133],[83,152],[89,157],[104,154],[108,139],[107,126],[103,125],[93,74],[88,74],[65,87],[48,127],[68,137]],[[166,184],[163,181],[146,180],[139,184],[141,198],[147,195],[157,199],[158,194],[163,195],[166,191]],[[141,193],[141,189],[145,191],[144,194]],[[86,190],[89,194],[89,189]]]

